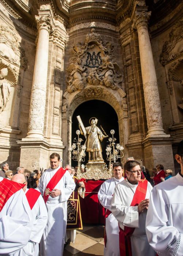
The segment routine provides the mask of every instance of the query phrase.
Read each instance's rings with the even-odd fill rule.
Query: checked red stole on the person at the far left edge
[[[0,211],[3,209],[8,199],[24,186],[25,184],[19,184],[5,178],[0,182]]]

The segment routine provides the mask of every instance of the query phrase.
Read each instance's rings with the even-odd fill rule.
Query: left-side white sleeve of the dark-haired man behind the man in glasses
[[[98,199],[104,208],[111,211],[111,201],[113,196],[107,195],[107,182],[103,182],[98,192]]]

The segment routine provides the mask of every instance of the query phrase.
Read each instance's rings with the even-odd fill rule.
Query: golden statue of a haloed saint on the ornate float
[[[89,124],[91,126],[85,127],[85,134],[83,132],[83,129],[81,129],[81,126],[79,125],[81,134],[86,135],[86,151],[89,153],[89,161],[103,161],[100,141],[102,142],[104,138],[108,137],[107,135],[104,135],[102,131],[100,131],[100,129],[96,126],[97,122],[97,118],[90,118]]]

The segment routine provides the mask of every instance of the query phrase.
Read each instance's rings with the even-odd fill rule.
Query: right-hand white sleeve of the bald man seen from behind
[[[40,195],[37,202],[32,208],[33,214],[33,229],[31,231],[30,240],[39,243],[43,234],[43,231],[47,224],[47,209],[45,202]]]

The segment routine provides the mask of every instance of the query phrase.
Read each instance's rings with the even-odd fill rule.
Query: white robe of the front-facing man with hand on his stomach
[[[42,195],[45,192],[48,182],[58,169],[60,169],[60,166],[55,170],[49,168],[42,174],[38,186]],[[67,221],[67,200],[75,189],[75,186],[75,182],[69,172],[66,171],[55,186],[56,189],[61,191],[61,195],[48,197],[46,202],[48,221],[41,240],[41,255],[61,256],[63,254]]]

